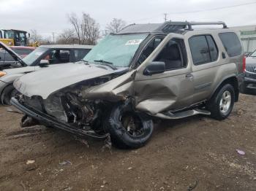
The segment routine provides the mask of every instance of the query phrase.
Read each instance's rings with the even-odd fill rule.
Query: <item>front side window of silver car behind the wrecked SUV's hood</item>
[[[48,60],[50,64],[68,63],[70,58],[70,50],[52,50],[43,60]]]

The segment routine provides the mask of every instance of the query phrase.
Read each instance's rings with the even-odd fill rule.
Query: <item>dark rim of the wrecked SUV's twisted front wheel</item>
[[[121,124],[127,130],[130,136],[141,136],[144,133],[142,122],[135,114],[124,114],[121,117]]]

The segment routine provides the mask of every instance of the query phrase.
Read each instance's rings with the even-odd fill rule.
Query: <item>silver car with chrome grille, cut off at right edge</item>
[[[244,57],[244,78],[241,83],[241,93],[256,93],[256,50],[248,57]]]

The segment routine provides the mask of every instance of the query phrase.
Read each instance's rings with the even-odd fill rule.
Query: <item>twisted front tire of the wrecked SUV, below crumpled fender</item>
[[[129,116],[132,117],[130,120]],[[129,103],[114,106],[103,126],[110,133],[112,144],[119,149],[143,147],[151,138],[154,128],[148,115],[134,112]]]

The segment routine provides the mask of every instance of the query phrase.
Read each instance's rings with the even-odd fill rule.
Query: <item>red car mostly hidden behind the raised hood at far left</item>
[[[21,58],[25,58],[26,55],[29,55],[36,47],[23,47],[23,46],[11,46],[10,47],[14,52],[20,55]],[[0,69],[8,68],[15,65],[16,61],[12,58],[12,55],[4,49],[0,49]],[[16,65],[17,66],[17,65]]]

